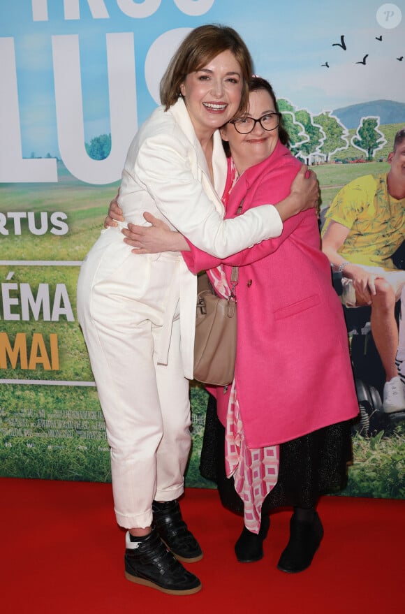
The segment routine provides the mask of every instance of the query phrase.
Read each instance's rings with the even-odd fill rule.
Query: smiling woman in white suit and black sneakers
[[[149,212],[222,258],[280,235],[283,219],[314,202],[316,180],[302,173],[281,203],[223,220],[218,129],[246,107],[251,73],[233,29],[202,26],[184,39],[161,82],[163,105],[128,151],[119,194],[127,223],[145,224]],[[191,445],[195,313],[196,277],[178,252],[134,259],[119,227],[102,231],[80,272],[78,317],[107,427],[117,522],[128,529],[125,573],[170,594],[201,587],[179,562],[202,552],[177,502]]]

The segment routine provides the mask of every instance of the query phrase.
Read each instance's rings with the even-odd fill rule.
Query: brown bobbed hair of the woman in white
[[[237,31],[228,26],[207,24],[190,32],[180,43],[170,60],[160,86],[161,103],[167,111],[180,96],[180,85],[186,75],[202,66],[223,51],[230,51],[242,71],[242,98],[238,113],[244,112],[249,101],[248,81],[253,72],[251,54]]]

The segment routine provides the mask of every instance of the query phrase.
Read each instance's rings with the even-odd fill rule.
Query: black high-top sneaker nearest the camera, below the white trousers
[[[125,577],[172,595],[191,595],[201,590],[200,580],[184,569],[154,529],[140,541],[131,541],[127,532]]]

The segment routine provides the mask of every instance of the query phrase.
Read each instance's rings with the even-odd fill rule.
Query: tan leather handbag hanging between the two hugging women
[[[216,295],[207,273],[198,276],[194,379],[202,383],[227,386],[233,381],[237,335],[237,276],[237,267],[233,267],[230,298]]]

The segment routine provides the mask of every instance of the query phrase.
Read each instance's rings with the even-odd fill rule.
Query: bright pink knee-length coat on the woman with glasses
[[[242,198],[245,211],[288,196],[299,168],[278,142],[269,159],[237,181],[226,217],[235,217]],[[191,249],[184,259],[192,272],[219,264]],[[295,215],[277,239],[223,262],[228,281],[231,265],[240,267],[235,381],[248,446],[281,444],[357,416],[346,325],[320,249],[316,212]],[[228,393],[216,388],[222,423]]]

